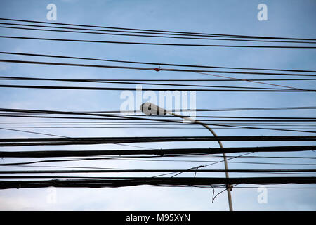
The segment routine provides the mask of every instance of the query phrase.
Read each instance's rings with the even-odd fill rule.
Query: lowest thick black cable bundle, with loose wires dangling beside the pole
[[[123,187],[140,185],[206,185],[210,184],[315,184],[316,177],[242,177],[242,178],[148,178],[148,177],[119,177],[108,179],[53,179],[46,181],[0,181],[0,189],[8,188],[44,188],[55,187]]]

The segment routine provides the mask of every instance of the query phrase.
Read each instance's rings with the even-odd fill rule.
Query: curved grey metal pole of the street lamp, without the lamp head
[[[176,117],[183,118],[184,120],[189,120],[189,121],[191,121],[191,122],[193,122],[195,124],[200,124],[203,127],[205,127],[206,129],[208,129],[213,134],[213,136],[217,136],[217,134],[213,131],[213,129],[211,129],[211,127],[209,127],[208,125],[206,125],[206,124],[204,124],[202,122],[199,122],[198,120],[192,120],[190,117],[184,117],[182,115],[178,115],[176,113],[172,113],[172,112],[169,112],[169,111],[166,111],[166,113],[169,113],[170,115],[173,115],[173,116],[176,116]],[[221,141],[218,141],[218,144],[219,144],[220,148],[224,148]],[[223,158],[224,158],[224,165],[225,165],[225,170],[226,170],[225,176],[228,179],[229,178],[229,175],[228,175],[228,164],[227,164],[227,159],[226,159],[225,152],[223,152]],[[226,190],[227,190],[227,195],[228,195],[228,205],[230,207],[230,211],[232,211],[232,195],[230,193],[230,191],[231,191],[230,189],[231,189],[230,184],[226,184]]]

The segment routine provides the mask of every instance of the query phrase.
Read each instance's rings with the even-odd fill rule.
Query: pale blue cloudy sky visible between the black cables
[[[57,23],[100,25],[109,27],[133,27],[150,30],[176,30],[185,32],[205,32],[215,34],[243,34],[271,37],[316,38],[316,2],[315,1],[17,1],[0,2],[0,18],[47,21],[48,4],[57,6]],[[268,20],[257,18],[258,4],[268,6]],[[2,21],[1,21],[2,22]],[[107,41],[147,41],[157,39],[145,37],[118,37],[98,34],[69,34],[57,32],[38,32],[0,28],[3,36],[46,37],[65,39],[93,39]],[[208,41],[164,40],[158,42],[206,44]],[[237,42],[237,41],[236,41]],[[214,41],[216,44],[223,44]],[[239,44],[239,43],[234,43]],[[282,68],[292,70],[316,70],[314,49],[240,49],[195,46],[146,46],[127,44],[71,43],[62,41],[37,41],[25,39],[5,39],[0,41],[0,51],[42,53],[63,56],[82,56],[114,60],[133,60],[160,63],[179,63],[195,65],[217,65],[242,68]],[[27,56],[6,56],[1,59],[38,60]],[[51,58],[44,61],[58,61]],[[83,60],[62,60],[64,63],[86,63]],[[91,62],[95,63],[95,62]],[[107,65],[117,65],[106,63]],[[22,65],[0,63],[1,75],[47,77],[65,79],[213,79],[205,75],[190,72],[155,72],[136,70],[117,70],[110,68],[79,68],[56,65]],[[247,75],[239,75],[247,78]],[[269,78],[265,75],[265,78]],[[215,78],[216,79],[216,78]],[[32,84],[32,82],[1,81],[1,84]],[[34,85],[47,84],[37,82]],[[54,84],[50,82],[49,84]],[[75,85],[74,83],[72,85]],[[199,83],[200,84],[200,83]],[[226,83],[225,83],[226,84]],[[295,82],[283,82],[282,85],[295,85]],[[83,85],[83,84],[80,84]],[[84,84],[97,86],[97,84]],[[215,84],[220,85],[220,84]],[[237,85],[237,84],[232,84]],[[241,82],[240,85],[254,85]],[[298,84],[297,84],[298,85]],[[315,82],[301,82],[301,88],[315,89]],[[115,85],[113,85],[115,86]],[[257,85],[259,86],[259,85]],[[123,100],[121,91],[77,91],[42,89],[0,89],[0,108],[26,108],[41,110],[119,110]],[[197,93],[197,108],[256,108],[288,107],[315,105],[312,93]],[[144,99],[145,101],[145,99]],[[140,105],[135,105],[136,109]],[[212,115],[232,116],[293,116],[315,117],[315,110],[214,112]],[[1,122],[15,121],[2,117]],[[18,120],[18,119],[17,119]],[[28,119],[23,119],[27,121]],[[31,119],[29,119],[31,120]],[[26,129],[25,129],[26,130]],[[286,131],[264,131],[245,129],[214,129],[218,136],[238,135],[295,135]],[[47,132],[60,136],[207,136],[206,129],[27,129],[27,131]],[[299,133],[297,134],[299,135]],[[41,137],[17,131],[0,130],[4,137]],[[297,143],[224,143],[232,146],[270,146],[296,145]],[[304,143],[315,144],[315,143]],[[217,147],[217,143],[150,143],[138,144],[149,148],[206,148]],[[3,150],[41,150],[42,147],[3,148]],[[56,147],[45,147],[55,150]],[[124,146],[62,146],[60,150],[76,149],[130,149]],[[299,153],[303,156],[315,156],[314,153]],[[259,155],[259,154],[257,154]],[[261,154],[264,155],[264,154]],[[281,155],[281,154],[278,154]],[[288,154],[289,155],[289,154]],[[291,153],[298,155],[298,153]],[[244,161],[251,159],[244,159]],[[2,159],[11,162],[12,159]],[[237,160],[236,160],[237,161]],[[259,159],[260,161],[260,159]],[[232,160],[232,162],[234,162]],[[261,160],[260,162],[276,162]],[[291,160],[288,160],[291,162]],[[294,162],[294,161],[293,161]],[[297,162],[297,161],[296,161]],[[312,161],[310,161],[312,162]],[[47,163],[47,165],[49,165]],[[60,163],[60,165],[80,165],[80,162]],[[86,162],[85,166],[118,168],[190,168],[197,162],[136,162],[124,160],[96,160]],[[214,165],[214,169],[223,169],[223,165]],[[230,164],[230,169],[241,169],[244,165]],[[246,165],[247,169],[256,168]],[[261,169],[270,168],[261,165]],[[275,165],[273,168],[281,168]],[[284,167],[282,167],[284,168]],[[291,167],[287,167],[291,168]],[[305,168],[305,167],[302,167]],[[311,168],[311,167],[308,167]],[[1,170],[8,169],[6,167]],[[13,169],[13,168],[12,168]],[[14,168],[19,169],[19,168]],[[20,168],[21,169],[21,168]],[[36,168],[29,168],[36,169]],[[211,167],[210,167],[211,169]],[[198,174],[202,176],[202,174]],[[218,174],[216,174],[218,176]],[[234,174],[232,176],[238,176]],[[297,186],[289,184],[287,187]],[[48,199],[55,193],[56,201]],[[220,190],[216,190],[218,193]],[[258,203],[256,188],[234,188],[232,202],[235,210],[316,210],[315,189],[268,189],[268,203]],[[34,188],[8,189],[0,191],[0,210],[228,210],[227,195],[218,195],[211,201],[211,188]]]

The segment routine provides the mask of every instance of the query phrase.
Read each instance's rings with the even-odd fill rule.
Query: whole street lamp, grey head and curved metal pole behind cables
[[[143,113],[145,113],[146,115],[166,115],[166,114],[169,114],[169,115],[173,115],[175,117],[180,117],[183,120],[187,120],[187,121],[190,121],[192,123],[202,125],[206,129],[208,129],[213,134],[213,136],[217,136],[217,134],[211,129],[211,127],[204,124],[203,122],[200,122],[198,120],[193,120],[192,118],[185,117],[183,115],[178,115],[176,113],[173,113],[172,111],[167,111],[164,108],[161,108],[158,105],[155,105],[153,103],[143,103],[142,105],[140,105],[140,110]],[[218,144],[219,144],[220,148],[224,148],[221,141],[218,141]],[[223,158],[224,158],[224,165],[225,165],[225,176],[228,179],[229,178],[228,165],[227,165],[225,152],[223,152]],[[226,190],[227,190],[227,195],[228,195],[228,205],[230,207],[230,211],[232,211],[232,195],[230,194],[231,186],[229,184],[226,184]]]

